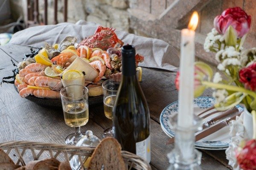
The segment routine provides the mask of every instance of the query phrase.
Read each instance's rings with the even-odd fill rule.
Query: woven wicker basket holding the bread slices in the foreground
[[[41,142],[28,142],[28,141],[14,141],[1,143],[0,148],[12,158],[16,164],[26,165],[29,161],[40,160],[47,158],[55,158],[59,161],[70,161],[70,159],[77,155],[80,164],[91,156],[94,148],[76,147],[61,144],[49,144]],[[121,151],[122,157],[129,169],[132,167],[136,170],[151,170],[150,165],[141,159],[139,156]],[[84,167],[81,167],[84,169]]]

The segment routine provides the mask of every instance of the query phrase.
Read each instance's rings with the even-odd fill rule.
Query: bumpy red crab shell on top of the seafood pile
[[[111,47],[122,47],[124,43],[117,38],[114,31],[115,29],[113,28],[98,26],[95,33],[82,40],[77,48],[81,45],[86,45],[90,48],[100,48],[106,51]]]

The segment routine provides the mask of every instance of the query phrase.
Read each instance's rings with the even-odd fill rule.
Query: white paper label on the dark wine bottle
[[[136,142],[136,155],[145,159],[148,163],[151,160],[150,135],[147,139]]]

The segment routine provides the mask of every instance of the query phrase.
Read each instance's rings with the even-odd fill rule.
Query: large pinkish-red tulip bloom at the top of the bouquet
[[[247,15],[240,7],[227,8],[221,15],[214,19],[214,27],[219,34],[224,35],[229,26],[232,26],[239,38],[243,37],[250,29],[251,16]]]

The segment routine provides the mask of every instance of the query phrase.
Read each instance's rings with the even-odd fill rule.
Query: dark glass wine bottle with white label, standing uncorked
[[[150,162],[150,115],[136,76],[135,48],[122,47],[122,80],[113,107],[113,136],[122,150]]]

